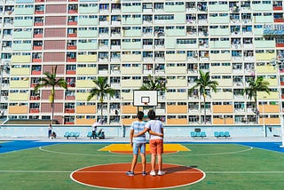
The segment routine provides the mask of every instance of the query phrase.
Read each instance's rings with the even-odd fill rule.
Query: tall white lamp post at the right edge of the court
[[[281,139],[282,144],[280,147],[284,147],[284,126],[283,126],[283,107],[282,107],[282,95],[281,95],[281,81],[280,81],[280,68],[283,67],[284,59],[272,59],[272,66],[277,68],[278,75],[278,88],[279,88],[279,99],[280,99],[280,127],[281,127]]]

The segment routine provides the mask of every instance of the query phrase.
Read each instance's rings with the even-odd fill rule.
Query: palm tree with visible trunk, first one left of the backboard
[[[94,96],[99,96],[100,108],[100,119],[103,119],[103,103],[104,98],[109,95],[110,97],[114,96],[114,89],[110,88],[107,83],[107,78],[99,76],[98,79],[93,80],[93,83],[96,84],[94,88],[91,89],[90,95],[87,97],[87,101],[90,101]]]

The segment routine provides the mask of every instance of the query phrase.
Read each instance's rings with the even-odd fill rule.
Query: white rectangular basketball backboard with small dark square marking
[[[134,107],[158,106],[158,91],[133,91]]]

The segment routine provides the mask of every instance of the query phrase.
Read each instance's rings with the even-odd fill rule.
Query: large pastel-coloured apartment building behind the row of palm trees
[[[167,125],[280,124],[284,75],[272,61],[284,57],[283,0],[0,0],[0,24],[9,118],[51,119],[51,89],[34,86],[57,65],[68,83],[56,92],[60,124],[94,123],[101,109],[107,123],[129,124],[133,91],[148,75],[167,79],[155,107]],[[200,69],[219,83],[206,105],[198,90],[188,93]],[[257,94],[256,122],[241,91],[258,75],[271,93]],[[115,90],[102,106],[86,100],[98,76]]]

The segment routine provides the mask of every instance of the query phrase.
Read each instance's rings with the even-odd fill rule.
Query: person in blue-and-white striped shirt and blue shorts
[[[138,120],[130,125],[130,146],[133,148],[133,158],[131,162],[131,168],[126,172],[127,176],[134,176],[134,169],[138,160],[138,152],[140,151],[142,162],[142,175],[146,176],[146,135],[141,134],[134,137],[134,134],[144,131],[145,124],[143,122],[144,113],[139,111],[137,114]]]

